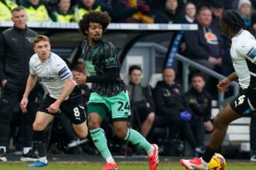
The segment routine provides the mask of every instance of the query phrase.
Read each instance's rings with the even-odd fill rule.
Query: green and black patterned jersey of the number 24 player
[[[126,90],[126,84],[119,75],[116,50],[111,42],[102,39],[90,47],[86,39],[82,42],[81,49],[81,56],[90,73],[86,82],[92,83],[92,91],[103,97],[113,97]]]

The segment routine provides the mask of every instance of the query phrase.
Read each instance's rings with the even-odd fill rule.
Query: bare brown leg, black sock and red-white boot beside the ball
[[[195,169],[196,167],[196,169],[207,170],[211,158],[223,142],[228,124],[240,117],[242,117],[242,115],[237,114],[237,112],[230,107],[230,104],[224,107],[223,110],[220,110],[220,113],[217,114],[214,119],[214,131],[213,134],[211,134],[209,146],[206,148],[205,154],[202,155],[202,158],[194,158],[192,160],[181,159],[181,164],[187,169]]]

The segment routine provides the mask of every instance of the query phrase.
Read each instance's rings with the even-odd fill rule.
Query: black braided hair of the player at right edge
[[[239,32],[240,29],[245,29],[244,20],[234,10],[224,11],[221,20],[235,33]]]

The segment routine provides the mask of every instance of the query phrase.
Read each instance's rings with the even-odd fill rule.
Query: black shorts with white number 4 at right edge
[[[256,87],[240,90],[237,97],[230,102],[230,107],[242,116],[251,114],[256,109]]]

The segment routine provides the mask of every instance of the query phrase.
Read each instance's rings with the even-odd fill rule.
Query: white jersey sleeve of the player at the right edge
[[[237,53],[240,56],[251,61],[251,63],[256,63],[256,48],[255,44],[237,44]]]

